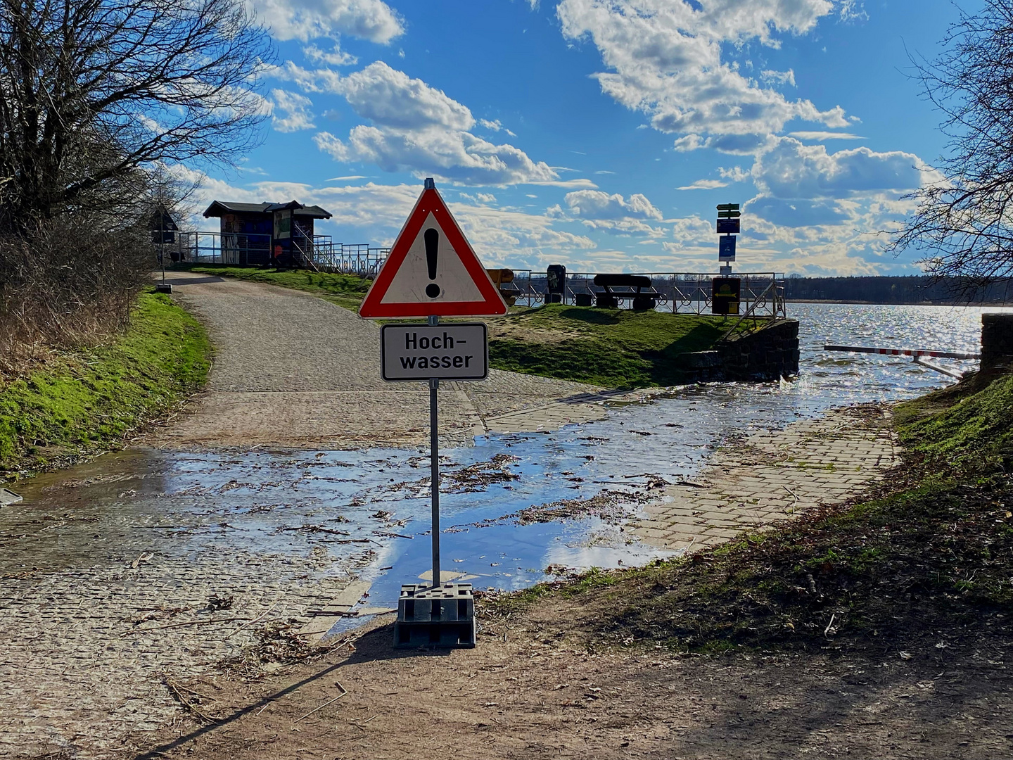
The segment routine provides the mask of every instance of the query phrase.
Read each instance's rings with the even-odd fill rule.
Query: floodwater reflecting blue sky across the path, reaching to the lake
[[[479,589],[518,589],[553,565],[642,563],[660,552],[625,534],[622,518],[666,483],[692,479],[714,448],[830,407],[950,382],[901,358],[824,352],[825,340],[979,348],[978,308],[798,304],[791,312],[802,352],[794,381],[686,386],[614,406],[599,422],[444,451],[445,580],[454,573]],[[243,573],[282,568],[303,587],[359,575],[374,584],[370,606],[393,606],[400,585],[430,569],[427,475],[424,449],[109,454],[21,485],[24,503],[0,512],[0,574],[153,554],[212,574],[229,565],[224,575],[234,578],[240,557]]]

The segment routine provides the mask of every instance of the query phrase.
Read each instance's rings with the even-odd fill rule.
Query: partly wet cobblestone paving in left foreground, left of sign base
[[[319,500],[293,502],[291,467],[257,496],[209,487],[215,461],[189,475],[203,488],[167,476],[164,456],[101,462],[41,476],[0,512],[0,757],[124,757],[178,718],[166,679],[219,677],[254,628],[306,623],[377,545],[280,533],[321,521]],[[216,500],[223,489],[237,499]],[[287,504],[270,504],[286,489]]]

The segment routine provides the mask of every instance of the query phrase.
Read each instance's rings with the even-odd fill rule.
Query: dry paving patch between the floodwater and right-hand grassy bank
[[[878,407],[835,409],[821,420],[750,437],[719,450],[695,485],[673,485],[628,529],[644,541],[692,550],[838,504],[900,462]]]

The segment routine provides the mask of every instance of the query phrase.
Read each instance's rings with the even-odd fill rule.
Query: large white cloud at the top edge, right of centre
[[[601,52],[608,71],[595,77],[603,92],[647,113],[655,129],[765,135],[795,119],[832,128],[848,122],[839,106],[820,110],[760,86],[722,61],[722,45],[777,48],[779,34],[804,34],[833,9],[830,0],[562,0],[557,14],[565,37],[590,37]],[[781,83],[794,78],[769,74],[780,74]],[[697,138],[676,147],[702,146]]]

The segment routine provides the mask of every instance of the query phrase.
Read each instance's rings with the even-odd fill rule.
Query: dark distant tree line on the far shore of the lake
[[[784,281],[784,297],[789,301],[960,304],[968,303],[968,295],[960,278],[789,277]],[[1006,303],[1013,298],[1013,281],[976,283],[972,297],[975,303]]]

